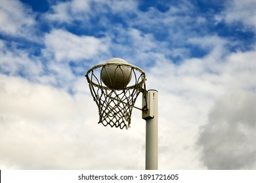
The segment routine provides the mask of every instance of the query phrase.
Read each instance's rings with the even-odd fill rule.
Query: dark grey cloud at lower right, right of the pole
[[[255,169],[256,97],[236,92],[221,97],[202,127],[198,144],[208,169]]]

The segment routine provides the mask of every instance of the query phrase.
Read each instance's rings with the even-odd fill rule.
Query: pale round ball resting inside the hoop
[[[106,63],[127,63],[127,61],[121,58],[112,58],[106,61]],[[106,65],[102,68],[100,77],[108,88],[121,90],[131,81],[131,67]]]

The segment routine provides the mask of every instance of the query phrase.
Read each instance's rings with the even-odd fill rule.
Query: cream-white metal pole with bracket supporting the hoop
[[[158,169],[158,91],[148,90],[148,92],[146,92],[146,95],[147,95],[147,101],[148,101],[147,102],[148,110],[142,111],[142,118],[146,120],[146,170],[157,170]],[[142,102],[142,104],[144,103]]]

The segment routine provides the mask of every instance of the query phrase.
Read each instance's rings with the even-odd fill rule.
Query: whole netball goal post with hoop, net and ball
[[[85,75],[98,106],[98,124],[128,129],[135,101],[142,93],[142,119],[146,120],[146,170],[158,169],[158,91],[146,90],[142,69],[120,58],[95,65]]]

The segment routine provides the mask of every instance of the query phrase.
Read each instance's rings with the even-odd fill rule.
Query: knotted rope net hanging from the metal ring
[[[113,73],[106,73],[110,79],[111,86],[106,86],[102,82],[102,71],[110,71],[110,67],[115,66],[114,72],[129,71],[130,81],[127,86],[121,85],[118,90],[113,89],[115,80],[123,75],[113,75]],[[112,71],[113,72],[113,71]],[[120,72],[119,72],[120,73]],[[140,92],[146,91],[146,75],[139,67],[126,63],[102,63],[89,69],[85,75],[89,82],[89,88],[93,95],[93,100],[98,106],[99,121],[98,124],[111,127],[119,127],[120,129],[128,129],[131,124],[131,114],[135,101]],[[112,76],[112,80],[111,80]],[[114,76],[114,80],[113,80]],[[105,78],[106,80],[106,78]],[[112,81],[112,82],[111,82]]]

